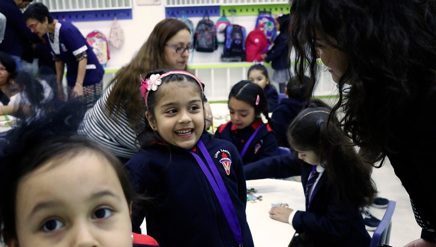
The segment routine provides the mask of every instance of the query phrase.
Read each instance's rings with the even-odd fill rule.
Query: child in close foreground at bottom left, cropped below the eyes
[[[149,236],[132,234],[135,195],[122,164],[76,134],[84,113],[77,102],[61,102],[45,112],[12,129],[0,152],[5,244],[157,246]]]

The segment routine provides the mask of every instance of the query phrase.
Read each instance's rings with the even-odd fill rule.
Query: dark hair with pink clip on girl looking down
[[[259,104],[256,105],[257,96],[259,96]],[[265,96],[265,91],[256,83],[250,80],[241,80],[234,84],[229,93],[229,101],[231,98],[244,101],[254,108],[254,114],[256,116],[261,113],[264,114],[268,123],[270,118],[268,116],[268,101]]]

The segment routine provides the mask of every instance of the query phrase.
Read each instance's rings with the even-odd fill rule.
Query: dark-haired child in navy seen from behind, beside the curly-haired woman
[[[292,77],[288,81],[285,89],[285,94],[288,97],[281,100],[271,116],[271,125],[280,147],[289,148],[288,138],[284,133],[306,102],[305,95],[310,78],[305,76],[302,83],[296,83],[297,80],[297,77]]]

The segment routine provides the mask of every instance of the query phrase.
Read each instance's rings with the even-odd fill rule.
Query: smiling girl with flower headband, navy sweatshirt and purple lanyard
[[[156,207],[133,207],[133,231],[145,216],[162,247],[252,247],[242,161],[231,143],[205,129],[201,81],[185,71],[141,79],[146,127],[126,167],[136,191]]]

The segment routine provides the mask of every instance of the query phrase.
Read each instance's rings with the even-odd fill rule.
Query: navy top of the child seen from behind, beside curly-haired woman
[[[276,133],[277,142],[279,143],[280,147],[289,148],[286,132],[289,124],[291,124],[296,115],[298,115],[298,113],[301,111],[303,105],[303,100],[283,98],[280,102],[280,105],[274,110],[271,116],[271,125],[272,129]]]

